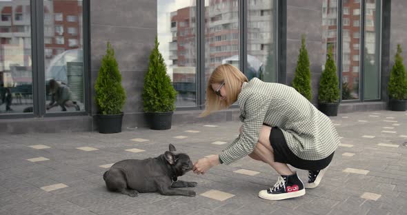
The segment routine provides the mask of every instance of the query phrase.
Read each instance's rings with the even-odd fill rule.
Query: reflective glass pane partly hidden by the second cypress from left
[[[159,51],[177,90],[177,107],[197,104],[195,1],[157,1]]]

